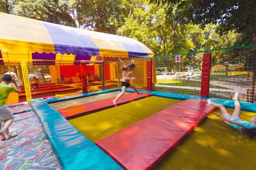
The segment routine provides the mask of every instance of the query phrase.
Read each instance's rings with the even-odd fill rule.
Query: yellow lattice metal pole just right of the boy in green
[[[20,65],[21,65],[21,70],[22,70],[26,99],[29,104],[30,100],[32,99],[32,95],[31,95],[31,89],[30,89],[30,84],[29,84],[27,63],[25,60],[22,59],[20,61]]]

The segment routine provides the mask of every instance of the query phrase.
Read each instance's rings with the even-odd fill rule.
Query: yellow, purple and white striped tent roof
[[[0,13],[0,62],[154,57],[139,41]],[[2,58],[2,60],[1,60]],[[113,59],[113,58],[112,58]]]

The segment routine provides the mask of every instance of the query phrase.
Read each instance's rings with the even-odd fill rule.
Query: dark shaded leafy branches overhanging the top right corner
[[[151,0],[160,5],[167,4],[167,13],[176,6],[178,13],[187,22],[199,24],[204,28],[207,24],[217,24],[216,31],[226,34],[229,31],[242,33],[237,44],[252,42],[252,34],[256,34],[256,0]]]

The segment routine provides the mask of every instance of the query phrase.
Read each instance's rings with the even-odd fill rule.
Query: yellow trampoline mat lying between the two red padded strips
[[[95,142],[178,102],[152,96],[68,121]]]

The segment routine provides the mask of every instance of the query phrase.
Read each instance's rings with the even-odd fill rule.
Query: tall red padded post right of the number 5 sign
[[[203,66],[202,66],[202,78],[201,78],[201,97],[209,97],[210,87],[210,70],[211,70],[211,57],[212,53],[203,53]]]

